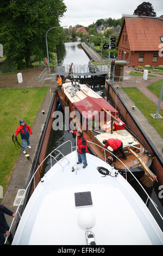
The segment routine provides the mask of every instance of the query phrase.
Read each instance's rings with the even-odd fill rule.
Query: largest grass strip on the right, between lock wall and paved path
[[[154,127],[154,129],[163,138],[163,119],[154,119],[150,114],[155,114],[157,107],[149,100],[144,94],[140,92],[137,88],[122,88],[124,92],[130,97],[134,102],[135,106],[140,109],[140,111],[148,119],[149,123]],[[163,112],[159,111],[159,114],[163,117]],[[139,121],[139,120],[138,120]],[[154,135],[153,135],[154,136]]]

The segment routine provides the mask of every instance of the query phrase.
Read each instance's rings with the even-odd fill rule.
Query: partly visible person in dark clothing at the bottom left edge
[[[10,211],[8,208],[0,204],[0,245],[4,245],[5,242],[5,236],[8,236],[8,240],[10,244],[12,243],[13,237],[12,234],[9,232],[9,225],[7,221],[5,220],[4,214],[7,214],[9,216],[12,216],[16,218],[16,214],[14,212]]]

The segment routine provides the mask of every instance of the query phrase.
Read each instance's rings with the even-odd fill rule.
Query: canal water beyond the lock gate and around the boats
[[[79,42],[67,42],[64,45],[60,46],[59,53],[57,53],[57,56],[60,57],[60,59],[64,60],[64,64],[75,64],[75,65],[86,65],[89,62],[89,58],[85,54],[85,52],[80,47]],[[96,93],[98,93],[101,96],[105,97],[105,84],[104,80],[101,80],[101,82],[96,83],[96,80],[93,82],[89,82],[91,88],[95,90]],[[105,98],[106,99],[106,98]],[[64,113],[63,113],[64,115]],[[63,126],[65,125],[65,120],[63,119]],[[49,144],[49,153],[51,153],[55,148],[57,148],[60,144],[66,142],[66,141],[72,141],[72,145],[75,143],[75,138],[73,138],[72,134],[68,130],[58,130],[52,132],[51,142]],[[62,154],[66,155],[67,153],[70,153],[70,144],[64,144],[60,149]],[[48,153],[48,154],[49,154]],[[54,161],[55,163],[55,161]],[[48,169],[51,167],[50,160],[47,161],[47,166],[45,168],[45,172],[48,171]],[[146,202],[146,195],[142,190],[140,189],[140,186],[137,185],[137,182],[131,182],[131,186],[134,187],[134,189],[139,193],[141,198]],[[154,188],[146,188],[146,192],[149,194],[149,196],[152,198],[153,202],[155,203],[156,208],[160,211],[161,215],[163,216],[163,186],[161,187],[160,184],[155,184]],[[161,192],[162,190],[162,192]],[[160,224],[160,217],[158,214],[156,214],[156,211],[154,209],[154,206],[151,202],[148,204],[148,208],[151,209],[153,215],[155,216],[156,220]],[[121,215],[121,213],[120,213]],[[161,227],[163,231],[163,227]]]

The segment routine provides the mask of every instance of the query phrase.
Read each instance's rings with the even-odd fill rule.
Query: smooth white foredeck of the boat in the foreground
[[[162,231],[135,190],[120,175],[105,176],[98,166],[115,170],[90,154],[88,166],[75,166],[76,151],[48,171],[37,185],[18,225],[12,245],[86,245],[78,225],[81,211],[90,210],[96,223],[91,229],[96,245],[161,245]],[[75,206],[74,193],[91,192],[92,206]]]

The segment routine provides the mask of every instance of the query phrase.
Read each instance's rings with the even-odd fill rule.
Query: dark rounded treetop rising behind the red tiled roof
[[[134,10],[134,15],[141,16],[142,14],[145,14],[145,16],[150,16],[150,17],[156,16],[156,13],[151,3],[143,2],[142,4],[138,5],[137,8]]]

